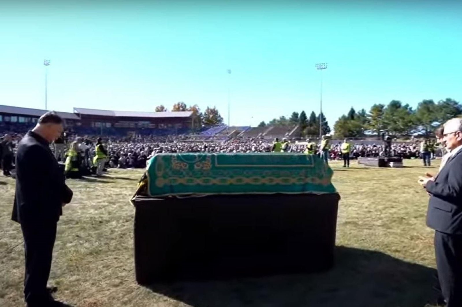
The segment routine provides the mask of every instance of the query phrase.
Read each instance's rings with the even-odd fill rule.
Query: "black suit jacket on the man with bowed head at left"
[[[72,196],[49,142],[29,131],[16,153],[12,220],[24,225],[57,222],[62,204],[70,203]]]

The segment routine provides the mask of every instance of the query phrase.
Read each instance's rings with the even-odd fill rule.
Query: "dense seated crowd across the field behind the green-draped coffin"
[[[5,135],[0,140],[0,166],[6,176],[14,168],[14,147],[22,138],[22,134]],[[274,151],[276,141],[252,138],[252,139],[231,139],[211,140],[200,139],[196,136],[140,136],[132,135],[127,137],[106,137],[101,140],[103,144],[103,167],[104,168],[145,168],[146,161],[158,153],[265,153]],[[359,157],[379,157],[385,153],[385,145],[381,141],[377,143],[365,143],[365,141],[348,141],[350,159]],[[51,149],[58,161],[66,162],[69,156],[69,148],[76,152],[73,156],[74,171],[79,169],[77,177],[90,173],[97,173],[97,163],[94,159],[97,155],[97,137],[79,137],[72,133],[65,133],[56,140]],[[288,153],[307,153],[308,142],[295,142],[284,139],[284,148],[281,151]],[[327,150],[329,160],[341,160],[344,153],[341,148],[341,141],[330,141]],[[312,154],[320,154],[321,144],[313,142]],[[437,155],[437,147],[430,149],[431,158]],[[421,146],[418,141],[408,143],[394,143],[391,145],[393,156],[403,159],[418,159],[422,157]],[[101,159],[100,159],[101,160]],[[69,162],[69,161],[68,161]],[[101,163],[100,163],[101,164]],[[69,170],[69,168],[68,168]],[[100,172],[98,172],[99,174]]]

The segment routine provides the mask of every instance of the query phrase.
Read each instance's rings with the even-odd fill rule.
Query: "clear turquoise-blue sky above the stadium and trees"
[[[1,1],[0,104],[152,111],[216,105],[231,124],[392,99],[462,101],[462,1]],[[97,2],[95,4],[94,2]],[[151,1],[152,2],[152,1]]]

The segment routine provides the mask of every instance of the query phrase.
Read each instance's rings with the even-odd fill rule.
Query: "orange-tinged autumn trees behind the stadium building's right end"
[[[156,112],[167,112],[167,108],[161,104],[155,108]],[[219,111],[215,106],[213,108],[208,107],[204,112],[197,104],[190,105],[189,107],[182,101],[177,102],[172,106],[172,112],[191,111],[193,112],[193,129],[199,129],[204,125],[219,125],[223,123],[223,117],[221,117]]]

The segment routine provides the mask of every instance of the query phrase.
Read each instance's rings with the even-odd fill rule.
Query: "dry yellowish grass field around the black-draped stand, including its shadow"
[[[331,165],[342,197],[332,270],[149,288],[134,280],[129,198],[141,171],[68,180],[74,199],[58,224],[49,281],[59,288],[55,297],[79,307],[423,307],[433,301],[433,232],[425,225],[428,196],[417,177],[437,166],[424,168],[420,160],[407,160],[402,169]],[[0,177],[1,307],[24,306],[22,235],[10,220],[13,194],[14,180]]]

